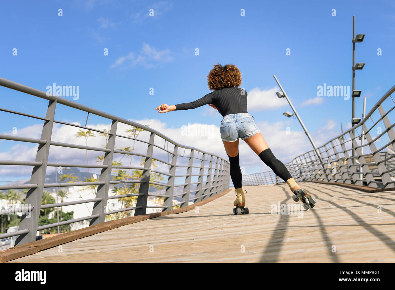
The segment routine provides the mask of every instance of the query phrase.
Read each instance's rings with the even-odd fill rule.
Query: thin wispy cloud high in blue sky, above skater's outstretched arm
[[[127,56],[122,56],[118,58],[111,67],[119,67],[125,61],[128,61],[129,67],[134,67],[136,65],[144,65],[145,68],[154,67],[154,63],[166,63],[172,61],[173,58],[170,56],[170,50],[156,50],[156,48],[149,46],[147,43],[143,43],[141,52],[137,58],[134,56],[133,52],[130,52]]]

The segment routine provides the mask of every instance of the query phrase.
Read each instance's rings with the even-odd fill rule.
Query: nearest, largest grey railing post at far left
[[[33,167],[32,175],[30,176],[30,184],[37,184],[37,188],[30,188],[26,194],[25,204],[31,204],[33,210],[22,214],[21,221],[19,223],[19,231],[28,229],[27,234],[19,235],[15,240],[15,246],[34,242],[36,240],[38,219],[40,217],[41,200],[43,197],[44,183],[45,183],[45,172],[47,171],[49,147],[51,144],[53,120],[55,117],[56,100],[49,101],[46,119],[44,121],[43,130],[41,131],[41,140],[47,141],[45,144],[38,144],[37,154],[35,161],[42,162],[41,165]],[[30,215],[30,216],[29,216]]]

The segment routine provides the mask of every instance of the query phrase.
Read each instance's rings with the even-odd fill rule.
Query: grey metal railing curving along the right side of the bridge
[[[286,163],[295,180],[395,187],[395,100],[391,96],[394,91],[395,86],[384,94],[359,124],[317,150],[308,151]],[[384,107],[388,108],[387,111]],[[353,130],[357,136],[354,136]],[[352,155],[353,148],[355,155]],[[273,171],[243,176],[243,186],[280,182],[284,180]]]

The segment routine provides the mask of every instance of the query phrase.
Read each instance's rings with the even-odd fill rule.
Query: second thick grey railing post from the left
[[[102,198],[101,201],[96,201],[93,204],[92,216],[95,214],[99,214],[99,217],[93,218],[89,226],[97,225],[98,223],[105,222],[105,212],[107,209],[107,197],[108,191],[110,188],[110,179],[111,179],[111,170],[113,165],[113,157],[114,157],[114,147],[115,147],[115,136],[117,135],[117,126],[118,120],[113,120],[111,123],[110,134],[107,141],[107,149],[110,149],[110,152],[105,152],[103,165],[107,165],[107,168],[103,168],[100,173],[99,181],[104,181],[105,184],[99,184],[98,189],[96,191],[96,198]]]

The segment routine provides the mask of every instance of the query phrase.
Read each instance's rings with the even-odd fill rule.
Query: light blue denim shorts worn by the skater
[[[220,126],[221,139],[223,141],[235,142],[251,137],[261,131],[255,124],[254,116],[250,113],[226,115]]]

